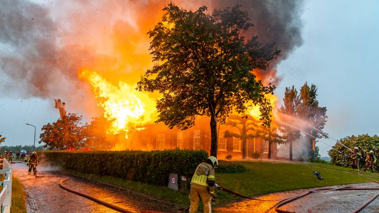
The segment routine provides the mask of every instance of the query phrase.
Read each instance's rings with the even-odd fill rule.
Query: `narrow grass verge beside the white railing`
[[[12,205],[10,208],[11,213],[27,213],[25,204],[26,194],[24,186],[20,179],[13,177],[12,179]]]

